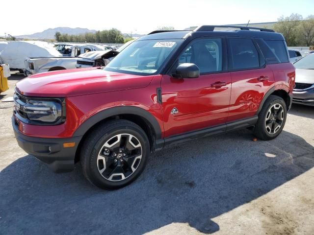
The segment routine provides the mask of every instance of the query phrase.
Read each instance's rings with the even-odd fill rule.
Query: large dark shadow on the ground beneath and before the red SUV
[[[158,152],[137,181],[116,191],[90,185],[79,166],[54,174],[27,155],[0,172],[0,231],[140,235],[177,222],[210,234],[219,230],[211,218],[312,168],[313,152],[285,131],[253,142],[241,130]]]

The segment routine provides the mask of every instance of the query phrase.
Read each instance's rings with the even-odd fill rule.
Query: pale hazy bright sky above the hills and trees
[[[291,13],[314,14],[314,0],[3,0],[0,35],[59,26],[144,34],[158,26],[273,22]]]

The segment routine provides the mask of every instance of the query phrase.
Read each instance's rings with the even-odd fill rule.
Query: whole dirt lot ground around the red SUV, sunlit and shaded
[[[240,130],[158,152],[104,191],[79,165],[54,174],[19,148],[12,106],[0,102],[0,234],[314,234],[314,108],[293,105],[273,141]]]

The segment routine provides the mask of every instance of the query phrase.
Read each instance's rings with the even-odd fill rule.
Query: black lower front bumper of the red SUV
[[[39,138],[26,136],[19,131],[15,116],[12,116],[12,126],[18,144],[24,151],[48,164],[56,173],[74,170],[74,160],[78,143],[82,137],[72,138]],[[64,148],[63,143],[75,142],[75,146]]]

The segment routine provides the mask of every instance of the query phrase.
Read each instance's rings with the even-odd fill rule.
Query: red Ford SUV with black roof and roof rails
[[[226,27],[154,31],[105,68],[23,79],[12,117],[19,145],[56,172],[80,161],[91,183],[113,189],[166,146],[246,127],[262,140],[277,137],[295,77],[285,39]]]

